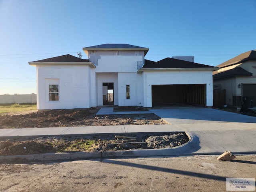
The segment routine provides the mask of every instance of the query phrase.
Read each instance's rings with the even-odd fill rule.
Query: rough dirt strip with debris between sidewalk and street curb
[[[120,137],[120,138],[117,138]],[[157,140],[147,140],[148,138]],[[132,138],[132,139],[130,139]],[[161,142],[172,138],[168,142]],[[115,150],[140,150],[170,148],[188,141],[185,132],[151,132],[151,133],[120,133],[89,135],[89,136],[43,136],[39,138],[0,139],[0,156],[41,154],[53,152],[96,152]],[[156,143],[161,145],[156,145]],[[26,150],[24,149],[26,147]]]

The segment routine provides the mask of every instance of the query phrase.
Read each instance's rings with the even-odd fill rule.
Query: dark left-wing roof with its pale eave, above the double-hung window
[[[79,65],[89,65],[91,68],[95,68],[96,66],[90,62],[88,59],[81,59],[75,56],[72,56],[70,54],[67,55],[62,55],[62,56],[57,56],[57,57],[52,57],[52,58],[47,58],[47,59],[42,59],[38,61],[32,61],[28,62],[30,65],[74,65],[74,64],[79,64]]]

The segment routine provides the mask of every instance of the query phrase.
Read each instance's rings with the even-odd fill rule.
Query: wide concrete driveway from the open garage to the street
[[[192,136],[192,145],[184,147],[182,154],[256,153],[256,117],[210,108],[150,111],[170,123],[161,130],[182,130]]]

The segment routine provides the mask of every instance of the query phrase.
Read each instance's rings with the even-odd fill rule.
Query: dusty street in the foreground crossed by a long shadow
[[[2,163],[2,192],[225,192],[226,178],[255,178],[256,155],[106,158]]]

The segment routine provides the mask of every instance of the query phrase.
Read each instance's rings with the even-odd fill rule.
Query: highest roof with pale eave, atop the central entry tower
[[[96,51],[96,50],[108,50],[108,51],[118,51],[118,50],[132,50],[132,51],[144,51],[146,55],[149,48],[139,47],[135,45],[129,44],[102,44],[90,47],[84,47],[83,50],[88,55],[88,51]]]

